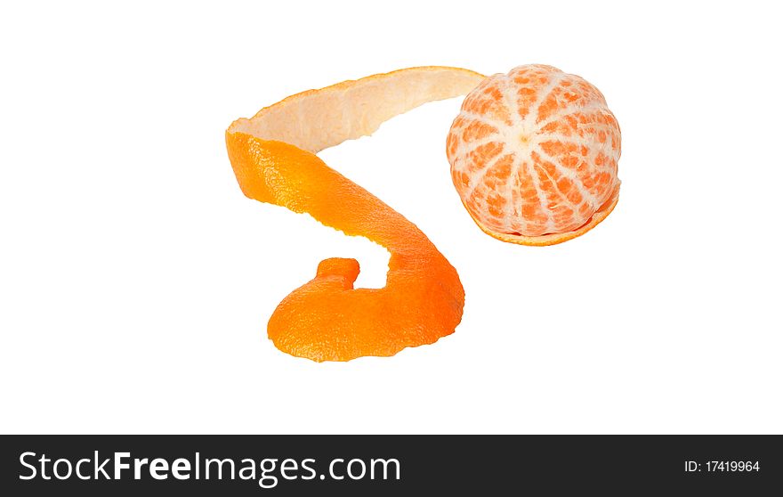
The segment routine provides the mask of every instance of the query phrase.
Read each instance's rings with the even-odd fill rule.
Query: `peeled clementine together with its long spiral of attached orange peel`
[[[275,309],[269,338],[314,361],[392,355],[453,333],[464,290],[423,232],[315,154],[371,134],[424,102],[468,94],[447,139],[452,180],[481,230],[552,245],[587,232],[618,201],[620,129],[601,92],[544,65],[484,78],[423,67],[295,94],[238,119],[226,145],[247,197],[373,240],[391,253],[383,289],[354,289],[359,263],[322,261]]]

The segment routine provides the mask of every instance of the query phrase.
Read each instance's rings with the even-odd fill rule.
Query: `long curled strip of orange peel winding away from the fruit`
[[[280,350],[349,361],[397,354],[454,332],[464,306],[454,267],[415,224],[315,154],[425,102],[467,94],[483,78],[467,69],[400,69],[295,94],[231,124],[226,146],[247,197],[307,212],[391,254],[382,289],[353,288],[355,259],[322,261],[315,278],[270,317],[269,338]]]

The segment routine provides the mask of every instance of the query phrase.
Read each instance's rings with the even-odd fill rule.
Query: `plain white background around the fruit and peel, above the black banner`
[[[9,4],[2,431],[783,432],[783,40],[763,4]],[[393,358],[272,346],[321,259],[378,287],[388,254],[247,200],[230,122],[392,69],[532,62],[606,95],[615,212],[559,246],[489,238],[448,174],[461,99],[425,105],[321,157],[456,266],[464,321]]]

